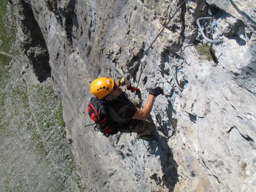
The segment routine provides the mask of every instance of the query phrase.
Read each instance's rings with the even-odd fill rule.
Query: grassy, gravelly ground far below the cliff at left
[[[79,191],[52,79],[38,82],[16,42],[11,4],[0,10],[0,191]]]

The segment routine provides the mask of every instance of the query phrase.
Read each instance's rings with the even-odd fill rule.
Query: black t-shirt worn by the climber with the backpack
[[[127,121],[127,123],[132,123],[133,120],[131,118],[134,116],[137,109],[126,97],[124,92],[118,96],[116,101],[111,103],[111,106],[108,107],[108,113],[114,122],[124,123]]]

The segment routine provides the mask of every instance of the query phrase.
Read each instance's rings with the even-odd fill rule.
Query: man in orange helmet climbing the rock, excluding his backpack
[[[113,104],[108,107],[108,114],[113,122],[123,124],[123,126],[119,128],[120,132],[136,132],[138,139],[146,141],[154,140],[155,136],[150,134],[150,132],[156,128],[156,125],[154,122],[148,120],[148,117],[154,104],[154,98],[163,93],[162,88],[156,87],[152,89],[149,92],[145,106],[143,109],[140,109],[141,100],[130,100],[120,88],[124,85],[124,78],[114,82],[111,78],[101,77],[91,83],[90,90],[92,94],[100,100],[116,100],[116,102],[111,102]]]

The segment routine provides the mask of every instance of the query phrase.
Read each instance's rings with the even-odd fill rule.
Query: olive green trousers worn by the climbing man
[[[130,100],[136,107],[140,108],[141,107],[141,100],[140,99],[132,99]],[[154,124],[154,122],[150,121],[150,120],[138,120],[136,122],[135,125],[131,125],[130,130],[123,130],[123,133],[150,133],[152,132],[154,129],[156,129],[156,125]]]

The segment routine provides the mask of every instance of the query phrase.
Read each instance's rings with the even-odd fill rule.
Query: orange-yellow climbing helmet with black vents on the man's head
[[[114,87],[114,81],[110,78],[100,77],[91,83],[91,92],[94,96],[102,99],[109,94]]]

